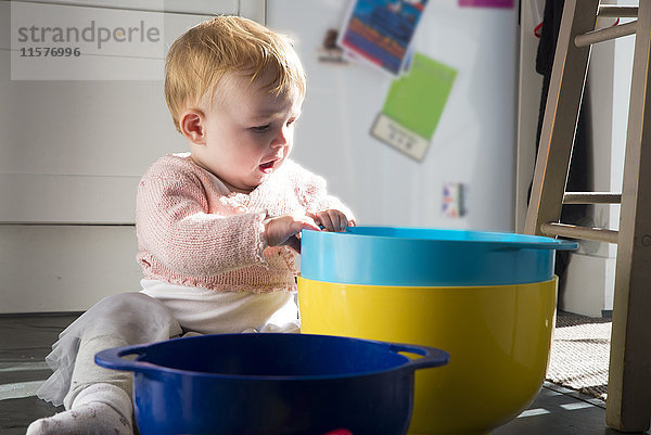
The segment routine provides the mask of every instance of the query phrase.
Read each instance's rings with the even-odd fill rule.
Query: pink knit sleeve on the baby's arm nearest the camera
[[[150,169],[138,187],[138,241],[177,273],[213,276],[266,266],[265,217],[265,213],[208,213],[204,184],[189,170]]]

